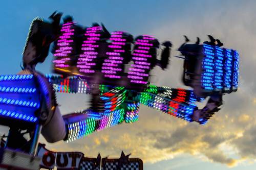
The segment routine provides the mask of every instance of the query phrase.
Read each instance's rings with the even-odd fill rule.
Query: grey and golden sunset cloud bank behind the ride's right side
[[[195,12],[204,5],[204,12]],[[73,143],[59,142],[49,144],[50,147],[77,150],[94,157],[99,151],[101,155],[118,157],[121,150],[124,150],[125,153],[131,152],[132,156],[140,157],[144,162],[168,160],[180,154],[203,156],[206,158],[205,161],[227,166],[236,166],[242,161],[256,159],[256,15],[252,8],[254,6],[255,3],[249,1],[224,3],[222,8],[211,3],[202,3],[193,11],[187,10],[180,19],[169,20],[169,16],[166,16],[155,28],[147,30],[160,40],[169,39],[174,43],[172,56],[178,55],[175,49],[183,42],[183,34],[188,35],[191,41],[194,41],[196,36],[200,36],[204,41],[207,34],[212,34],[220,38],[226,47],[239,51],[240,88],[237,93],[224,96],[223,109],[205,126],[186,123],[142,106],[139,121],[132,125],[122,124]],[[181,84],[181,72],[182,60],[173,58],[167,71],[163,72],[159,68],[153,71],[153,83],[184,87]],[[64,100],[62,102],[67,103]],[[77,105],[78,103],[75,106]],[[223,145],[230,148],[227,149]]]

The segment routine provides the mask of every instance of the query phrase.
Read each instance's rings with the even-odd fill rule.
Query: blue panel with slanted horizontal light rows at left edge
[[[0,117],[5,124],[15,123],[12,119],[35,123],[39,107],[39,92],[33,75],[0,76]]]

